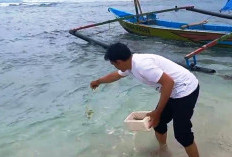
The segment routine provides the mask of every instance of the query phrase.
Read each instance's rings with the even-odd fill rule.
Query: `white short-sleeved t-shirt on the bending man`
[[[163,72],[174,80],[171,98],[187,96],[198,86],[197,78],[189,70],[155,54],[133,54],[131,70],[118,71],[121,76],[132,74],[141,82],[156,88],[158,91],[160,91],[161,84],[157,82]]]

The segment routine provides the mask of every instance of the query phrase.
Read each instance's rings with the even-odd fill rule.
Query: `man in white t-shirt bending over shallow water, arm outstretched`
[[[121,43],[111,45],[104,58],[118,71],[92,81],[91,88],[95,89],[102,83],[111,83],[131,74],[159,90],[161,94],[158,105],[147,116],[150,116],[150,127],[154,127],[160,150],[166,147],[167,123],[173,120],[176,140],[184,146],[189,157],[199,157],[191,131],[191,117],[199,94],[196,77],[162,56],[132,55],[130,49]]]

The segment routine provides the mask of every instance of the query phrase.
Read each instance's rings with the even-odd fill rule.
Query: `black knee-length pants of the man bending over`
[[[160,134],[167,132],[167,123],[173,119],[173,128],[176,139],[184,138],[188,142],[180,142],[182,145],[189,145],[193,142],[194,136],[191,131],[191,117],[199,95],[198,87],[188,96],[182,98],[169,98],[160,118],[157,127],[154,128]],[[185,143],[185,144],[183,144]],[[186,144],[187,143],[187,144]]]

